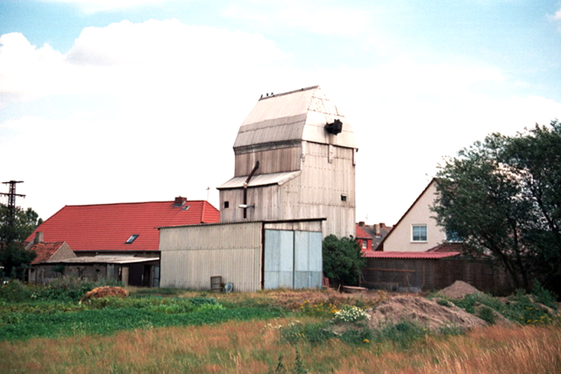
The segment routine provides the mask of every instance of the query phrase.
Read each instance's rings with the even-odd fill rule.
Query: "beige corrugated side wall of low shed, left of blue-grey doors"
[[[162,287],[210,289],[222,276],[236,291],[261,288],[262,223],[160,229]]]

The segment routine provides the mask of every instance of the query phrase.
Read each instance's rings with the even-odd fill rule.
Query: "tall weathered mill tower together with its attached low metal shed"
[[[356,151],[318,86],[259,99],[218,187],[220,224],[160,228],[161,286],[320,287],[323,237],[355,235]]]

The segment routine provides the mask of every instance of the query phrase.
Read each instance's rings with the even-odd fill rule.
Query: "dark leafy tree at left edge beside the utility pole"
[[[16,208],[13,226],[9,225],[8,216],[8,207],[0,204],[0,264],[4,267],[4,276],[15,277],[15,270],[29,265],[36,256],[25,250],[23,242],[43,220],[31,208]]]

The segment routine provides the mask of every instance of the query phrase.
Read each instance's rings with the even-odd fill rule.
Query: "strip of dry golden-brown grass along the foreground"
[[[0,342],[0,372],[267,373],[279,356],[290,372],[295,347],[280,341],[278,326],[294,321]],[[463,336],[427,337],[407,351],[388,343],[356,347],[336,339],[320,346],[302,343],[298,349],[311,373],[561,373],[561,329],[553,326],[492,326]]]

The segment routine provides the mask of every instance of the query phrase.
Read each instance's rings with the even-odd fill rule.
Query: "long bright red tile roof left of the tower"
[[[187,208],[187,209],[186,209]],[[158,251],[158,227],[217,223],[220,212],[204,200],[133,202],[104,205],[67,205],[47,219],[36,232],[45,242],[65,241],[79,251]],[[130,235],[138,235],[125,244]]]

